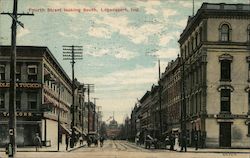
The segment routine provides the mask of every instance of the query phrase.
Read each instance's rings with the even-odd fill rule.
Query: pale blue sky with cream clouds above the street
[[[194,12],[203,2],[250,3],[250,0],[194,0]],[[0,12],[12,12],[12,0],[0,0]],[[178,39],[192,0],[19,0],[17,45],[46,46],[66,73],[63,45],[83,46],[83,60],[75,64],[75,77],[94,84],[90,98],[101,106],[103,121],[113,115],[122,123],[138,99],[158,81],[179,53]],[[11,18],[0,15],[0,45],[11,43]],[[92,99],[93,101],[93,99]]]

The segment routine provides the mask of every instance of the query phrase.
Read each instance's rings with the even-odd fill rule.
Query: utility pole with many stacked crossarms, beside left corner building
[[[70,147],[73,148],[75,144],[75,70],[74,64],[75,60],[82,60],[82,46],[63,46],[63,60],[70,60],[72,65],[72,105],[71,105],[71,113],[72,113],[72,122],[71,122],[71,139],[70,139]]]

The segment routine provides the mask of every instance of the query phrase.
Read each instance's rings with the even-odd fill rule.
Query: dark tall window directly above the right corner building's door
[[[221,112],[230,112],[230,89],[221,89],[220,101],[221,101]]]

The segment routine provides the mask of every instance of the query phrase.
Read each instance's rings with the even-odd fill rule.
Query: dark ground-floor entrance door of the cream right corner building
[[[220,147],[231,147],[231,123],[220,123]]]

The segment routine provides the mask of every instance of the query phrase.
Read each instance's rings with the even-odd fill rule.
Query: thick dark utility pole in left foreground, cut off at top
[[[11,27],[11,55],[10,55],[10,89],[9,89],[9,157],[15,157],[16,153],[16,30],[17,24],[24,27],[24,24],[18,21],[17,16],[31,16],[34,14],[17,13],[17,0],[13,3],[13,13],[1,13],[9,15],[12,18]]]

